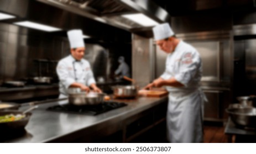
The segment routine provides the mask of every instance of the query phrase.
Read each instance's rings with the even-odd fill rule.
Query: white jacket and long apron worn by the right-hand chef
[[[202,142],[203,93],[199,88],[202,76],[200,54],[191,45],[180,41],[166,58],[163,79],[174,77],[184,87],[166,86],[169,103],[166,122],[170,142]]]

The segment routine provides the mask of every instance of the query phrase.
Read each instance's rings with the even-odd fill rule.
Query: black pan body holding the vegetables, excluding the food
[[[9,111],[0,111],[0,116],[5,116],[8,114],[14,114],[14,115],[18,115],[18,114],[23,114],[22,111],[15,111],[15,110],[9,110]],[[15,130],[20,130],[20,129],[24,129],[25,126],[28,124],[29,122],[29,118],[32,115],[32,113],[28,112],[25,113],[25,117],[13,122],[5,122],[5,123],[0,123],[0,131],[1,132],[5,132],[5,131],[15,131]]]

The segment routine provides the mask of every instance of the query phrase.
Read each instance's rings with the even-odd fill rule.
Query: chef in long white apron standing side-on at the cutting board
[[[144,89],[166,86],[166,117],[170,142],[203,142],[203,100],[199,87],[202,62],[197,50],[175,37],[168,23],[153,27],[156,45],[168,53],[165,72]]]

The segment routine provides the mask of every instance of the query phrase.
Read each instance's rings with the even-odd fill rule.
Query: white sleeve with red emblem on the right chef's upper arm
[[[187,86],[200,70],[200,56],[197,52],[185,52],[178,63],[179,71],[174,78],[184,86]]]

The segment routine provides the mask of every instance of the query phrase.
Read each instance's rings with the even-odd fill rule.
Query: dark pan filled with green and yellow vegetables
[[[20,130],[24,129],[29,122],[32,113],[23,113],[22,111],[0,111],[0,130]]]

